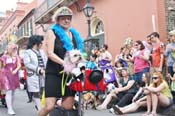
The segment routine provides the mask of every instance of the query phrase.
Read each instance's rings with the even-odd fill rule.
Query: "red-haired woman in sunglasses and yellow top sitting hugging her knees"
[[[157,116],[158,106],[166,108],[173,104],[173,96],[169,86],[160,72],[153,73],[152,83],[145,87],[145,93],[147,96],[147,112],[143,116]]]

